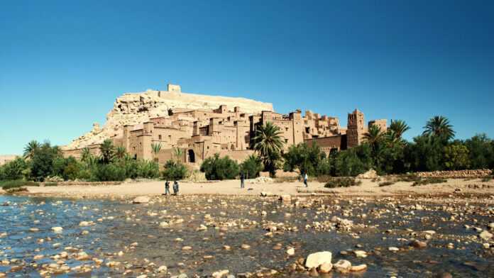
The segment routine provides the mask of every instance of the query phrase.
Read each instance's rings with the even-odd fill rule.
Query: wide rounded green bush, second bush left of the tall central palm
[[[238,164],[228,156],[219,158],[219,154],[216,153],[202,162],[201,172],[204,172],[209,180],[235,179],[238,176]]]

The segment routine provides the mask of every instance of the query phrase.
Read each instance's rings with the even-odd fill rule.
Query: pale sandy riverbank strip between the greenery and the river
[[[379,187],[379,182],[361,179],[356,187],[324,188],[324,183],[309,182],[305,188],[302,182],[261,183],[246,181],[246,187],[240,188],[238,180],[217,182],[180,182],[180,194],[224,194],[224,195],[260,195],[262,191],[273,195],[307,195],[330,194],[341,196],[397,196],[413,194],[482,194],[494,198],[494,181],[482,182],[481,179],[448,179],[442,184],[428,184],[412,187],[412,182],[397,182],[386,187]],[[170,185],[170,190],[172,187]],[[70,185],[57,187],[28,187],[29,194],[43,196],[155,196],[165,192],[165,182],[128,182],[119,185]]]

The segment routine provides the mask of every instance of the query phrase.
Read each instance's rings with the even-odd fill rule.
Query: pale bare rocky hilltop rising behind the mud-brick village
[[[149,118],[168,116],[170,109],[217,109],[221,104],[225,104],[229,109],[239,106],[242,112],[248,114],[273,111],[273,104],[240,97],[183,93],[180,86],[169,84],[167,91],[148,89],[119,96],[113,109],[106,114],[104,126],[100,127],[98,123],[94,123],[89,133],[72,140],[72,143],[62,148],[73,150],[101,143],[106,138],[119,135],[125,125],[134,126],[148,121]]]

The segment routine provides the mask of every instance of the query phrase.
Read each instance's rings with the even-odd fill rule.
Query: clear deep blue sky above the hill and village
[[[0,2],[0,154],[70,143],[168,83],[493,138],[494,1]]]

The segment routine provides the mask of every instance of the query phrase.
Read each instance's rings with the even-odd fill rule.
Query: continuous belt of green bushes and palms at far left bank
[[[43,182],[46,177],[60,177],[64,180],[106,182],[160,177],[157,162],[134,160],[125,149],[115,148],[111,140],[104,141],[100,152],[101,156],[95,156],[89,148],[84,148],[81,160],[76,160],[74,157],[63,157],[60,149],[48,142],[39,144],[31,141],[25,148],[24,157],[0,167],[0,181]]]

